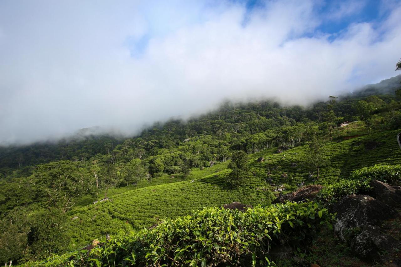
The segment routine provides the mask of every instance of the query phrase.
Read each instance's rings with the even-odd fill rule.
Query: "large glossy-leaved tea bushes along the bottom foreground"
[[[334,216],[314,202],[276,204],[246,212],[205,208],[137,234],[119,235],[99,249],[50,258],[42,266],[211,266],[273,264],[269,250],[305,243]],[[71,258],[72,256],[72,258]],[[71,259],[71,260],[70,260]]]

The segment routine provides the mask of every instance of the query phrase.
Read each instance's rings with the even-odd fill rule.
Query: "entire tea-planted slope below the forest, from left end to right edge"
[[[237,189],[226,187],[225,177],[229,170],[221,169],[226,168],[227,163],[203,171],[193,170],[188,180],[182,182],[176,182],[170,176],[156,178],[152,183],[160,183],[158,185],[148,184],[115,194],[110,202],[90,204],[74,210],[71,218],[78,218],[71,220],[69,232],[77,247],[119,230],[150,227],[160,219],[183,216],[203,206],[222,206],[232,201],[265,206],[274,198],[273,190],[281,188],[279,185],[286,188],[284,191],[290,191],[297,188],[299,182],[330,184],[346,178],[354,168],[377,163],[400,164],[401,150],[395,140],[396,134],[397,131],[391,131],[327,143],[324,154],[328,164],[322,168],[318,181],[315,176],[309,176],[307,146],[281,154],[274,154],[277,148],[273,148],[250,155],[253,176]],[[260,156],[265,158],[264,162],[257,162]]]

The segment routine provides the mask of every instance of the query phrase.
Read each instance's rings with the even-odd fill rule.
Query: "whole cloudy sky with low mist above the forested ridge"
[[[225,99],[308,105],[400,57],[399,0],[0,0],[0,144],[130,135]]]

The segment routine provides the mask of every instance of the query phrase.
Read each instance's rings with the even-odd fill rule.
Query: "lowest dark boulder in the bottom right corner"
[[[362,232],[351,241],[352,252],[364,260],[375,260],[381,251],[391,251],[397,241],[381,233],[379,227],[364,225]]]

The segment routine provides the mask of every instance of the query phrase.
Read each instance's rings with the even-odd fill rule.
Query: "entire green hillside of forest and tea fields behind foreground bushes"
[[[137,231],[199,203],[267,206],[277,189],[330,185],[361,167],[399,164],[391,139],[401,127],[397,79],[309,107],[227,101],[187,121],[154,123],[132,138],[83,130],[57,142],[1,147],[0,261],[79,249],[93,235]],[[351,124],[339,127],[345,121]],[[256,164],[257,158],[269,160]],[[193,193],[203,190],[209,196]]]

